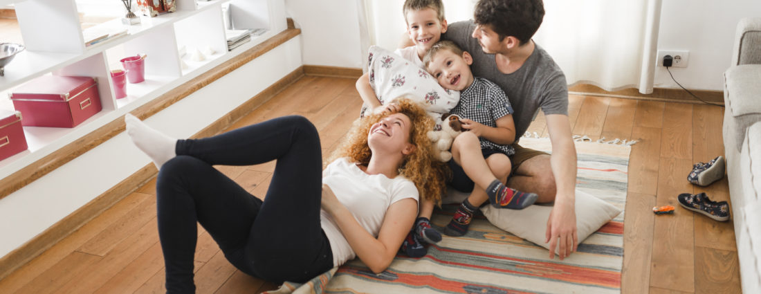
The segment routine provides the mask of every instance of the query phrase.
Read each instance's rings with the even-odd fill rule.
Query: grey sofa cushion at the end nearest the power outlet
[[[725,121],[728,139],[737,151],[745,141],[745,131],[761,120],[761,65],[732,66],[724,72],[724,104],[731,121]]]

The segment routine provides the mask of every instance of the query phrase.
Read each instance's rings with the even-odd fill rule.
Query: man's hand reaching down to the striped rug
[[[557,199],[557,197],[556,197]],[[576,232],[576,212],[574,203],[555,203],[547,219],[545,243],[549,242],[549,258],[555,258],[555,248],[559,248],[560,260],[575,252],[578,244]]]

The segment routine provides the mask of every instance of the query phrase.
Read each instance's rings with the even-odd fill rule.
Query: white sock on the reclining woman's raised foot
[[[156,168],[161,169],[161,165],[176,155],[174,146],[177,145],[177,139],[151,128],[129,113],[124,116],[124,123],[132,143],[151,158]]]

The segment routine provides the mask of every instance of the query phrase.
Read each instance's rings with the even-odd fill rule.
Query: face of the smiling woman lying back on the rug
[[[374,154],[379,152],[411,153],[415,145],[409,142],[412,120],[403,113],[392,113],[370,127],[368,145]]]

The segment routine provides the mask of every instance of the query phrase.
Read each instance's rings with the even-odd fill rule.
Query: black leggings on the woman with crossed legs
[[[158,173],[158,234],[167,292],[195,292],[196,221],[240,271],[279,283],[330,270],[320,227],[322,149],[304,117],[280,117],[206,139],[178,140],[177,157]],[[265,200],[212,165],[277,160]]]

